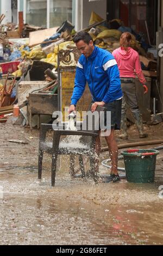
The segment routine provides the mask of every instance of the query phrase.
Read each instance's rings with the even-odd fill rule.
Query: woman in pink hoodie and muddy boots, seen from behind
[[[127,135],[127,124],[126,124],[126,104],[129,106],[131,112],[135,117],[135,124],[139,131],[139,137],[148,137],[147,134],[143,133],[142,117],[137,105],[136,89],[135,89],[135,76],[139,78],[142,83],[145,93],[148,92],[146,86],[146,79],[142,74],[139,54],[130,47],[132,36],[129,32],[123,33],[120,39],[121,47],[112,52],[115,57],[120,70],[121,86],[123,92],[122,100],[122,118],[121,118],[121,131],[120,138],[128,139]]]

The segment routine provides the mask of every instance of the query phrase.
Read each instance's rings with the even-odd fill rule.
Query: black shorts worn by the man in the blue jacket
[[[106,111],[111,112],[111,129],[120,130],[121,129],[121,110],[122,110],[122,99],[115,100],[110,103],[105,104]],[[110,127],[106,125],[106,115],[105,115],[105,126],[109,130]]]

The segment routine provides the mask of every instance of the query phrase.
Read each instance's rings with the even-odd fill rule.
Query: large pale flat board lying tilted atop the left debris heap
[[[39,45],[41,42],[49,36],[52,36],[53,34],[57,33],[57,29],[59,27],[55,28],[47,28],[47,29],[42,29],[39,31],[34,31],[29,33],[29,46],[32,47],[34,45]]]

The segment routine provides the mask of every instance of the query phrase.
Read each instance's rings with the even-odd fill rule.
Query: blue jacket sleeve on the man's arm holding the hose
[[[80,59],[79,59],[80,60]],[[86,86],[86,78],[84,75],[83,65],[78,61],[76,69],[76,77],[74,80],[74,89],[71,97],[71,105],[77,105],[82,97]]]

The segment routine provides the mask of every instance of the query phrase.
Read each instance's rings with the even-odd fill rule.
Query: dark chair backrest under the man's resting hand
[[[95,112],[91,112],[92,103],[87,108],[86,116],[82,123],[82,130],[97,132],[100,127],[100,119],[102,117],[103,111],[105,111],[105,107],[98,106]],[[103,113],[104,114],[104,113]]]

